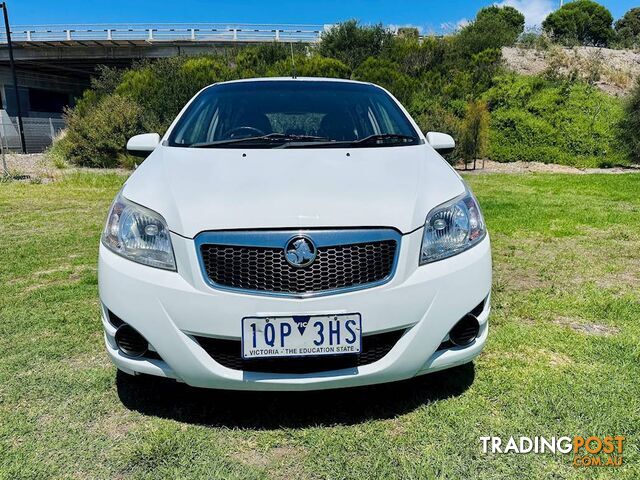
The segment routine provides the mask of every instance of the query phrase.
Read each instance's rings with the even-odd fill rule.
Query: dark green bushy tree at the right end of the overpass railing
[[[393,34],[382,25],[360,25],[349,20],[322,34],[318,53],[355,69],[369,57],[375,57],[391,43]]]

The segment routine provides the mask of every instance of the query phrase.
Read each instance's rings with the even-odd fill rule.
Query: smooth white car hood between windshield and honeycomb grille
[[[427,145],[354,149],[158,147],[123,195],[193,238],[206,230],[424,224],[464,191]]]

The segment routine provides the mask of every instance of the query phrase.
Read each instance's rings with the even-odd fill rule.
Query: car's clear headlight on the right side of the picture
[[[478,202],[467,190],[427,215],[420,265],[452,257],[480,243],[487,229]]]

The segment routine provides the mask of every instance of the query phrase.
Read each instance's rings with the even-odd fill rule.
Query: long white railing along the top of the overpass
[[[327,25],[161,23],[14,25],[14,42],[305,42],[315,43]],[[0,43],[7,43],[0,34]]]

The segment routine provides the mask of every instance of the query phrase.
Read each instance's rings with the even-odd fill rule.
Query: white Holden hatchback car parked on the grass
[[[116,197],[99,286],[130,374],[223,389],[407,379],[475,358],[491,251],[478,203],[384,89],[317,78],[200,91]]]

